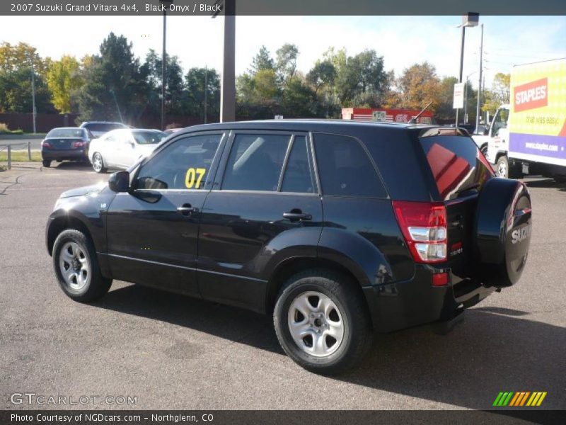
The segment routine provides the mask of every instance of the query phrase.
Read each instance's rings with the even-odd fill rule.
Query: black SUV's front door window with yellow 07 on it
[[[202,189],[221,134],[176,140],[141,166],[137,189]]]

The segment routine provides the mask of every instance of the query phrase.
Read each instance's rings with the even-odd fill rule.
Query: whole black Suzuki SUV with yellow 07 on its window
[[[294,361],[337,373],[374,331],[447,331],[521,276],[529,193],[460,131],[198,125],[108,185],[63,193],[47,249],[74,300],[119,279],[273,314]]]

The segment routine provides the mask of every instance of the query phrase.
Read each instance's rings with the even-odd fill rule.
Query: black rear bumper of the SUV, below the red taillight
[[[376,331],[451,322],[462,308],[477,304],[495,290],[473,280],[434,287],[433,271],[430,266],[417,265],[411,280],[362,288]]]

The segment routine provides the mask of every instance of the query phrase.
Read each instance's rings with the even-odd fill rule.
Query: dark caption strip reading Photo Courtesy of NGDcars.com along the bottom
[[[407,425],[564,424],[557,410],[30,410],[0,411],[2,425]]]

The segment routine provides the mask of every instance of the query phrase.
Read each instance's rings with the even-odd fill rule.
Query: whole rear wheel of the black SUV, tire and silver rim
[[[285,353],[311,372],[332,375],[356,365],[373,329],[364,297],[346,276],[314,269],[292,276],[273,313]]]

